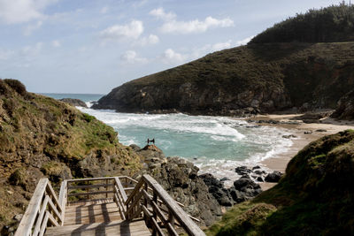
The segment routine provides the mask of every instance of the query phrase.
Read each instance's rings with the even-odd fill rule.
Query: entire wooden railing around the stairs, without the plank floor
[[[144,217],[153,235],[205,235],[189,216],[150,175],[139,181],[127,176],[64,180],[59,197],[49,179],[40,179],[15,236],[43,235],[47,226],[64,224],[65,206],[72,202],[111,198],[117,203],[120,217],[133,220]]]

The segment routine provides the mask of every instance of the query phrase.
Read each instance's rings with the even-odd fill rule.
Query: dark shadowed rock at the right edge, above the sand
[[[354,119],[354,89],[343,95],[338,101],[337,109],[332,115],[333,118]]]

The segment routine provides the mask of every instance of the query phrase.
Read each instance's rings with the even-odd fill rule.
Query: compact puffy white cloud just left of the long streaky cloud
[[[143,32],[142,21],[132,20],[127,25],[115,25],[101,31],[105,40],[119,40],[124,38],[137,39]]]

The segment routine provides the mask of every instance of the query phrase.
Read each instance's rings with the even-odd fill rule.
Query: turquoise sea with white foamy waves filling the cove
[[[103,95],[43,94],[50,97],[77,98],[90,107]],[[293,141],[283,138],[292,132],[274,126],[258,126],[242,118],[189,116],[186,114],[134,114],[114,110],[78,107],[95,116],[119,134],[124,145],[144,147],[155,139],[165,156],[180,156],[196,164],[199,173],[217,178],[238,179],[235,167],[259,165],[263,160],[287,152]],[[266,167],[263,167],[266,169]]]

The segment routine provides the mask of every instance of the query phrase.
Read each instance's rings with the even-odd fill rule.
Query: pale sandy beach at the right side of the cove
[[[294,120],[296,117],[300,117],[303,114],[287,114],[287,115],[258,115],[250,120],[275,120],[280,124],[261,123],[261,126],[277,126],[289,129],[296,136],[291,138],[293,145],[285,153],[277,156],[273,156],[261,162],[267,168],[273,171],[285,172],[285,169],[293,156],[296,156],[297,152],[304,148],[312,141],[318,140],[328,134],[338,133],[346,129],[354,129],[353,121],[335,120],[333,118],[321,119],[321,123],[306,124],[301,120]],[[287,123],[294,122],[298,124],[289,125]],[[285,123],[285,124],[284,124]],[[273,183],[263,183],[261,187],[266,190],[269,187],[273,187]]]

